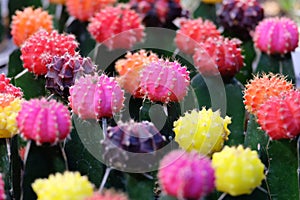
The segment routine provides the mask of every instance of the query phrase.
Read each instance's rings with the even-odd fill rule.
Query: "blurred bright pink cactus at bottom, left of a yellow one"
[[[180,199],[201,199],[215,187],[211,161],[183,150],[172,151],[162,159],[158,179],[164,193]]]

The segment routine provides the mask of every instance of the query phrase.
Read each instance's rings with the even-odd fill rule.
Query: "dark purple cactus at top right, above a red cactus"
[[[217,11],[220,24],[226,31],[241,39],[250,39],[250,31],[264,18],[257,0],[223,0]]]

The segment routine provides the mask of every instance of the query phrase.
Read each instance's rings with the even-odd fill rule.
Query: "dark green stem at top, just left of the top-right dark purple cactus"
[[[214,23],[216,23],[217,22],[216,5],[201,2],[199,7],[195,10],[193,16],[194,18],[201,17],[203,19],[209,19]]]

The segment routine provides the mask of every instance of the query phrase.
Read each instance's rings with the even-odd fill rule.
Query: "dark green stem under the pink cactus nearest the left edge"
[[[31,185],[38,178],[48,178],[50,174],[64,172],[67,169],[61,144],[43,144],[37,146],[30,141],[27,158],[25,158],[25,169],[23,175],[22,189],[23,199],[36,199],[37,196]]]

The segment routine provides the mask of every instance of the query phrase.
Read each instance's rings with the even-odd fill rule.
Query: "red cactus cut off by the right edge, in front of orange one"
[[[257,120],[270,138],[295,138],[300,134],[300,91],[270,97],[260,106]]]

